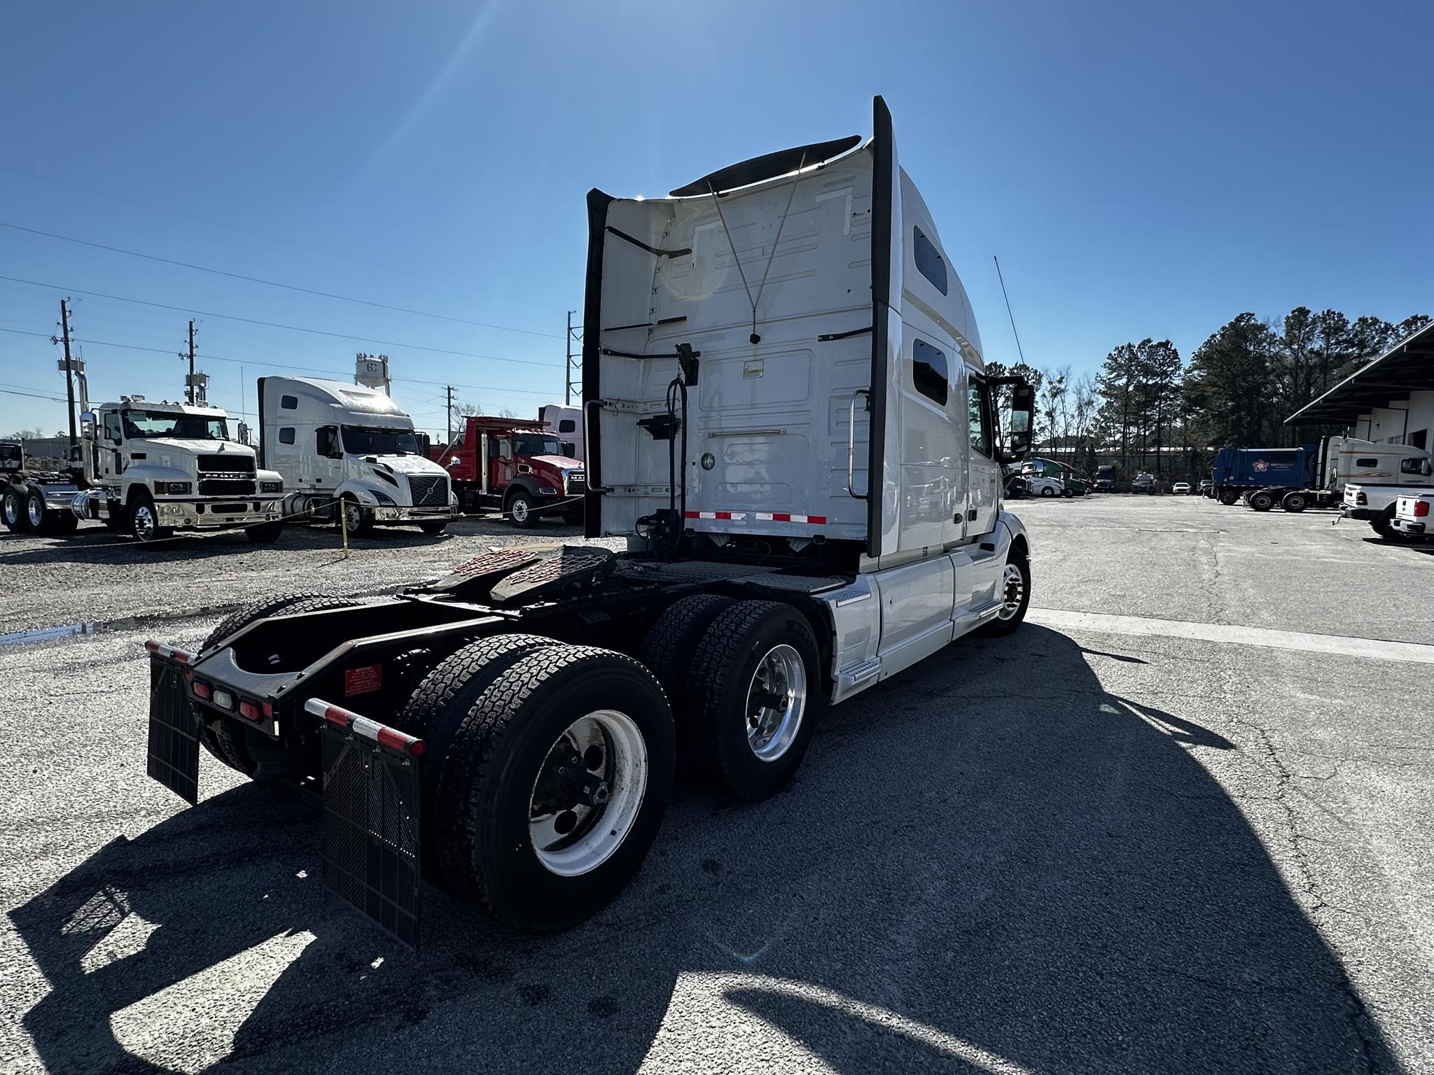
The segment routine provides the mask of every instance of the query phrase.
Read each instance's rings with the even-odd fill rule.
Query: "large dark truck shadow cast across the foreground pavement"
[[[53,1072],[1395,1071],[1223,750],[1027,625],[835,708],[769,803],[680,788],[592,922],[426,889],[417,955],[323,889],[317,813],[241,785],[11,913],[23,1026]]]

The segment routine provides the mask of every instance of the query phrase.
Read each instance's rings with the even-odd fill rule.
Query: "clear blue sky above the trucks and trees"
[[[525,331],[0,228],[0,275],[42,285],[0,280],[0,433],[65,423],[13,394],[63,396],[65,295],[95,396],[176,397],[192,314],[235,413],[265,364],[364,350],[420,427],[445,383],[526,416],[562,398],[589,186],[865,136],[873,93],[988,360],[1015,357],[992,254],[1027,360],[1077,371],[1243,310],[1434,314],[1431,30],[1427,3],[9,3],[0,222]]]

